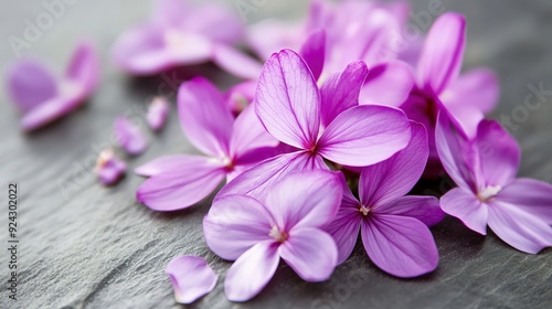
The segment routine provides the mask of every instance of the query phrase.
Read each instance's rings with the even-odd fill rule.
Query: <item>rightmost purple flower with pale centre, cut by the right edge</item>
[[[552,246],[552,185],[516,179],[520,149],[497,121],[480,121],[469,138],[440,111],[436,141],[445,170],[458,184],[440,199],[446,213],[482,235],[489,225],[502,241],[526,253]]]

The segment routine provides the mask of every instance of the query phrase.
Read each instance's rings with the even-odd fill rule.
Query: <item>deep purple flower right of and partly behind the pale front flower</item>
[[[427,161],[427,135],[423,125],[412,122],[408,146],[390,159],[362,169],[357,200],[343,179],[343,199],[336,220],[325,230],[338,245],[343,263],[362,236],[370,259],[397,277],[415,277],[434,270],[438,253],[427,226],[444,213],[434,196],[404,194],[414,187]]]

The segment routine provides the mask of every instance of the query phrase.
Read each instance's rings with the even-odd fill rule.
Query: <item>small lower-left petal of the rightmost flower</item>
[[[463,188],[455,188],[440,198],[440,207],[447,214],[461,220],[473,231],[487,235],[489,207],[474,193]]]

